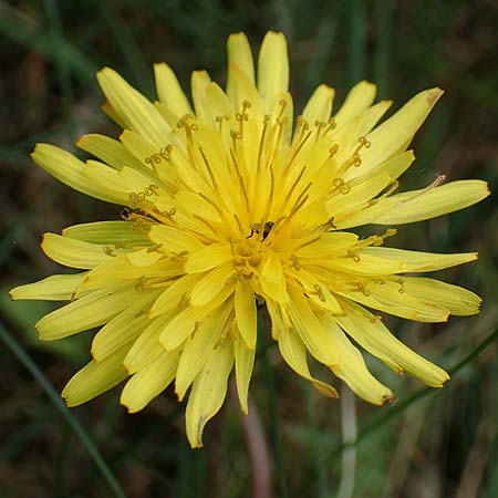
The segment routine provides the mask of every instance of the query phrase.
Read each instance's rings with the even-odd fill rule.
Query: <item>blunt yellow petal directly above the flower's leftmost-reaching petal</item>
[[[56,234],[44,234],[41,243],[43,252],[58,263],[87,270],[112,259],[107,246],[83,242]]]

